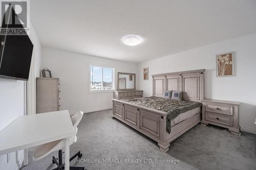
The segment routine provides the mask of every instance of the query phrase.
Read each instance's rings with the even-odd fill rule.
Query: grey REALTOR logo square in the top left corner
[[[1,35],[29,34],[29,1],[1,0]]]

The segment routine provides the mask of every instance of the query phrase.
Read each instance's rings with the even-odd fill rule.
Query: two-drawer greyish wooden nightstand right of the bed
[[[202,100],[201,125],[216,125],[227,128],[230,133],[240,135],[239,102]]]

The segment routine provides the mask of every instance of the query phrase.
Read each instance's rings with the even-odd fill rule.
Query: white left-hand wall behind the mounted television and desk
[[[28,111],[32,114],[36,106],[35,77],[39,76],[41,62],[41,45],[32,25],[29,37],[34,45],[28,81]],[[0,131],[18,116],[24,115],[24,88],[24,81],[0,78]],[[10,153],[8,158],[7,163],[7,154],[0,156],[0,169],[19,169],[23,162],[23,151]]]

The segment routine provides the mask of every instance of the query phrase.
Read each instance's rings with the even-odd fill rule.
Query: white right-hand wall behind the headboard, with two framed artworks
[[[216,55],[234,52],[234,77],[216,77]],[[143,68],[150,75],[205,68],[205,98],[241,102],[241,130],[255,133],[256,118],[256,34],[195,48],[146,61],[138,65],[138,84],[145,96],[152,95],[152,77],[143,80]]]

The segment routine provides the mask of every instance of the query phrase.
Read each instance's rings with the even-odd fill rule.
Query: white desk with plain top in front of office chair
[[[69,138],[74,135],[68,110],[20,116],[0,132],[0,155],[65,139],[65,169],[69,170]]]

